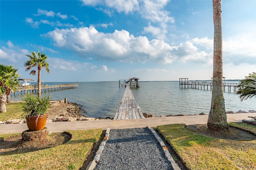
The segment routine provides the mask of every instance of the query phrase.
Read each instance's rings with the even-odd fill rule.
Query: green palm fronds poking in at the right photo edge
[[[249,73],[245,79],[240,80],[238,85],[239,90],[236,92],[240,94],[241,101],[256,95],[256,72]]]

